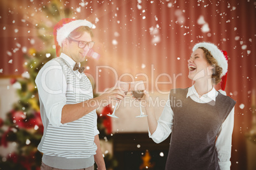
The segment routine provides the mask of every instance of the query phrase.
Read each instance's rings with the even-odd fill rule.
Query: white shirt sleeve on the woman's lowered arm
[[[218,164],[221,170],[229,170],[231,167],[231,145],[232,132],[234,128],[234,108],[225,119],[219,132],[216,141],[216,148],[218,152]]]

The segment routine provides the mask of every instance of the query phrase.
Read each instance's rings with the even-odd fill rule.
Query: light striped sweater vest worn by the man
[[[82,73],[82,78],[79,78],[65,60],[60,57],[53,60],[60,63],[65,75],[66,104],[80,103],[93,98],[92,85],[84,73]],[[47,120],[38,150],[45,155],[68,159],[87,158],[95,155],[97,149],[94,143],[94,126],[96,125],[95,120],[97,120],[95,117],[97,117],[96,110],[59,127],[52,126]]]

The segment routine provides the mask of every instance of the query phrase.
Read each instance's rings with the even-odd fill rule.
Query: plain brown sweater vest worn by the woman
[[[174,122],[166,169],[220,169],[215,141],[236,101],[219,93],[216,101],[197,103],[187,92],[188,88],[170,93]]]

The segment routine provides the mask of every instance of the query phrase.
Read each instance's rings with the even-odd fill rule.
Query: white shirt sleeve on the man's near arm
[[[36,86],[46,117],[53,126],[61,126],[62,108],[66,105],[66,78],[57,61],[51,60],[36,76]],[[40,106],[42,107],[42,106]]]

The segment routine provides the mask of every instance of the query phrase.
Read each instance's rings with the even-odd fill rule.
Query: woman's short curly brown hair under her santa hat
[[[213,66],[213,75],[211,75],[211,81],[214,84],[218,84],[220,81],[222,81],[221,75],[222,75],[222,67],[218,65],[217,60],[211,55],[211,52],[208,51],[208,49],[199,47],[203,49],[204,56],[206,57],[206,60],[208,63],[210,63],[211,66]]]

